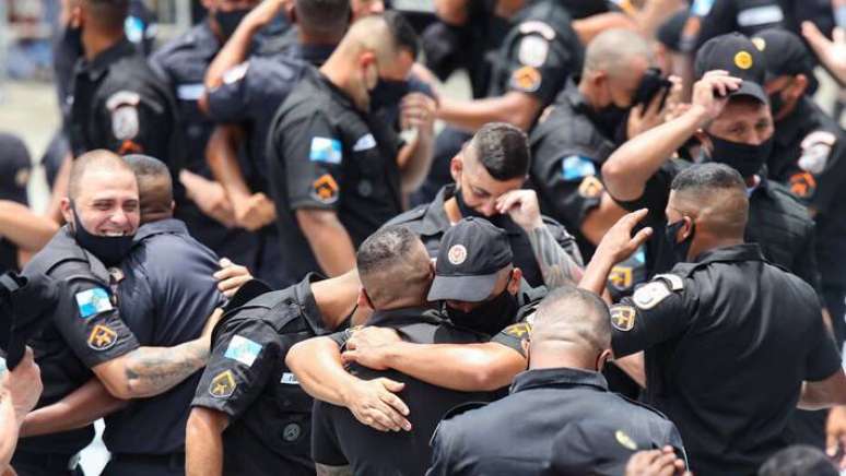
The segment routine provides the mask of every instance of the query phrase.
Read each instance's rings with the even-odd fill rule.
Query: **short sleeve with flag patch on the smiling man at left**
[[[55,324],[68,346],[89,367],[113,360],[139,347],[120,319],[108,287],[95,279],[72,278],[61,287]]]

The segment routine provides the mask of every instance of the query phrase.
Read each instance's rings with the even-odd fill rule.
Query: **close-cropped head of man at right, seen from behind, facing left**
[[[749,219],[747,186],[740,174],[717,163],[694,165],[672,181],[669,207],[695,219],[696,233],[742,239]]]

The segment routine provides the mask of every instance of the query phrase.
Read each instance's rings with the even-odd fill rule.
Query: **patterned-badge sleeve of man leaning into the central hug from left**
[[[261,394],[282,355],[279,335],[263,321],[227,323],[212,346],[191,406],[240,417]]]

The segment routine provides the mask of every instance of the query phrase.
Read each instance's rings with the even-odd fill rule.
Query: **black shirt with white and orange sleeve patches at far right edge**
[[[846,134],[810,98],[776,122],[769,177],[816,211],[818,262],[826,285],[846,287]]]

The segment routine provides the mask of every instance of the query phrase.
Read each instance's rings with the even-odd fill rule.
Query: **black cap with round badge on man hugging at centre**
[[[440,240],[428,300],[485,300],[493,293],[498,272],[512,264],[513,258],[505,230],[484,218],[463,218]]]

